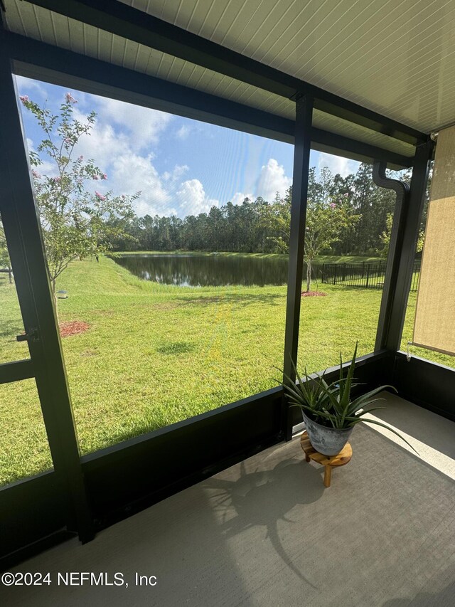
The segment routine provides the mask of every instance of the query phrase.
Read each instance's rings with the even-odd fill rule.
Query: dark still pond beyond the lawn
[[[253,255],[120,255],[119,265],[142,280],[180,287],[285,285],[287,258]],[[319,268],[315,268],[317,271]]]

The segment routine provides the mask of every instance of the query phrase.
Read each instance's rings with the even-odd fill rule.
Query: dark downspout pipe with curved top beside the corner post
[[[398,279],[398,267],[400,265],[400,250],[402,247],[402,236],[405,231],[405,221],[409,205],[410,186],[399,179],[388,179],[385,175],[386,165],[384,162],[373,164],[373,181],[377,186],[392,189],[397,194],[395,200],[395,211],[393,214],[392,230],[390,232],[389,253],[385,267],[384,287],[379,311],[378,331],[376,332],[375,351],[385,347],[387,334],[390,327],[392,315],[392,302],[395,297]]]

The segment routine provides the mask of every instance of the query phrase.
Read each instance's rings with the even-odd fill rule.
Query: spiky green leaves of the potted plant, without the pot
[[[291,403],[291,406],[300,407],[305,411],[306,415],[309,415],[309,417],[313,419],[313,421],[319,423],[321,426],[326,426],[327,428],[346,430],[347,428],[352,428],[360,421],[375,423],[377,426],[387,428],[387,430],[398,436],[417,453],[414,447],[410,445],[400,433],[393,428],[390,428],[390,426],[387,426],[387,424],[375,419],[363,418],[367,413],[385,408],[377,406],[371,407],[373,403],[384,400],[384,398],[374,398],[380,391],[385,388],[391,388],[395,392],[397,392],[397,390],[393,386],[385,385],[375,388],[366,394],[357,396],[356,398],[352,398],[350,394],[351,390],[355,388],[355,386],[360,385],[354,383],[357,348],[358,342],[355,344],[353,358],[350,362],[346,377],[343,374],[343,360],[340,353],[339,378],[331,384],[328,384],[324,378],[326,371],[324,371],[323,374],[316,374],[315,378],[311,378],[306,373],[305,369],[304,378],[306,381],[302,381],[293,361],[292,365],[298,383],[295,383],[289,376],[284,374],[284,377],[288,379],[289,383],[282,384],[284,390],[287,392],[289,403]]]

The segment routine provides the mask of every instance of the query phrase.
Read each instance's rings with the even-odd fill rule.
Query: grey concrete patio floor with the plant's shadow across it
[[[15,606],[453,607],[455,424],[401,398],[382,413],[421,458],[363,424],[353,459],[305,463],[299,437],[14,571],[50,586],[0,586]],[[65,586],[58,572],[123,574],[123,586]],[[135,575],[156,576],[155,586]],[[152,583],[154,579],[150,579]]]

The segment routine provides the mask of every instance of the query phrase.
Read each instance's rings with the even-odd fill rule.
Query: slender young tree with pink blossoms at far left
[[[90,112],[85,122],[76,120],[73,113],[77,100],[70,93],[66,93],[58,114],[40,107],[26,95],[20,99],[36,117],[45,135],[37,152],[30,153],[30,161],[36,167],[32,171],[36,203],[50,283],[55,293],[55,280],[71,261],[88,256],[98,259],[101,253],[112,248],[114,238],[125,235],[124,227],[134,216],[132,201],[140,193],[114,196],[112,191],[106,194],[91,191],[92,182],[106,180],[107,175],[92,159],[75,158],[75,150],[80,139],[90,135],[95,112]],[[50,161],[52,169],[47,169],[48,163],[44,164],[43,157]],[[41,173],[40,167],[43,167]]]

